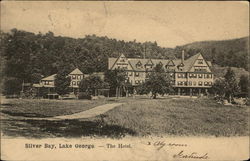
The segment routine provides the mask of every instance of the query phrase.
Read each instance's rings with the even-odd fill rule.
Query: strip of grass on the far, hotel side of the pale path
[[[39,99],[7,99],[1,105],[3,113],[12,116],[51,117],[73,114],[105,104],[100,100],[39,100]]]

